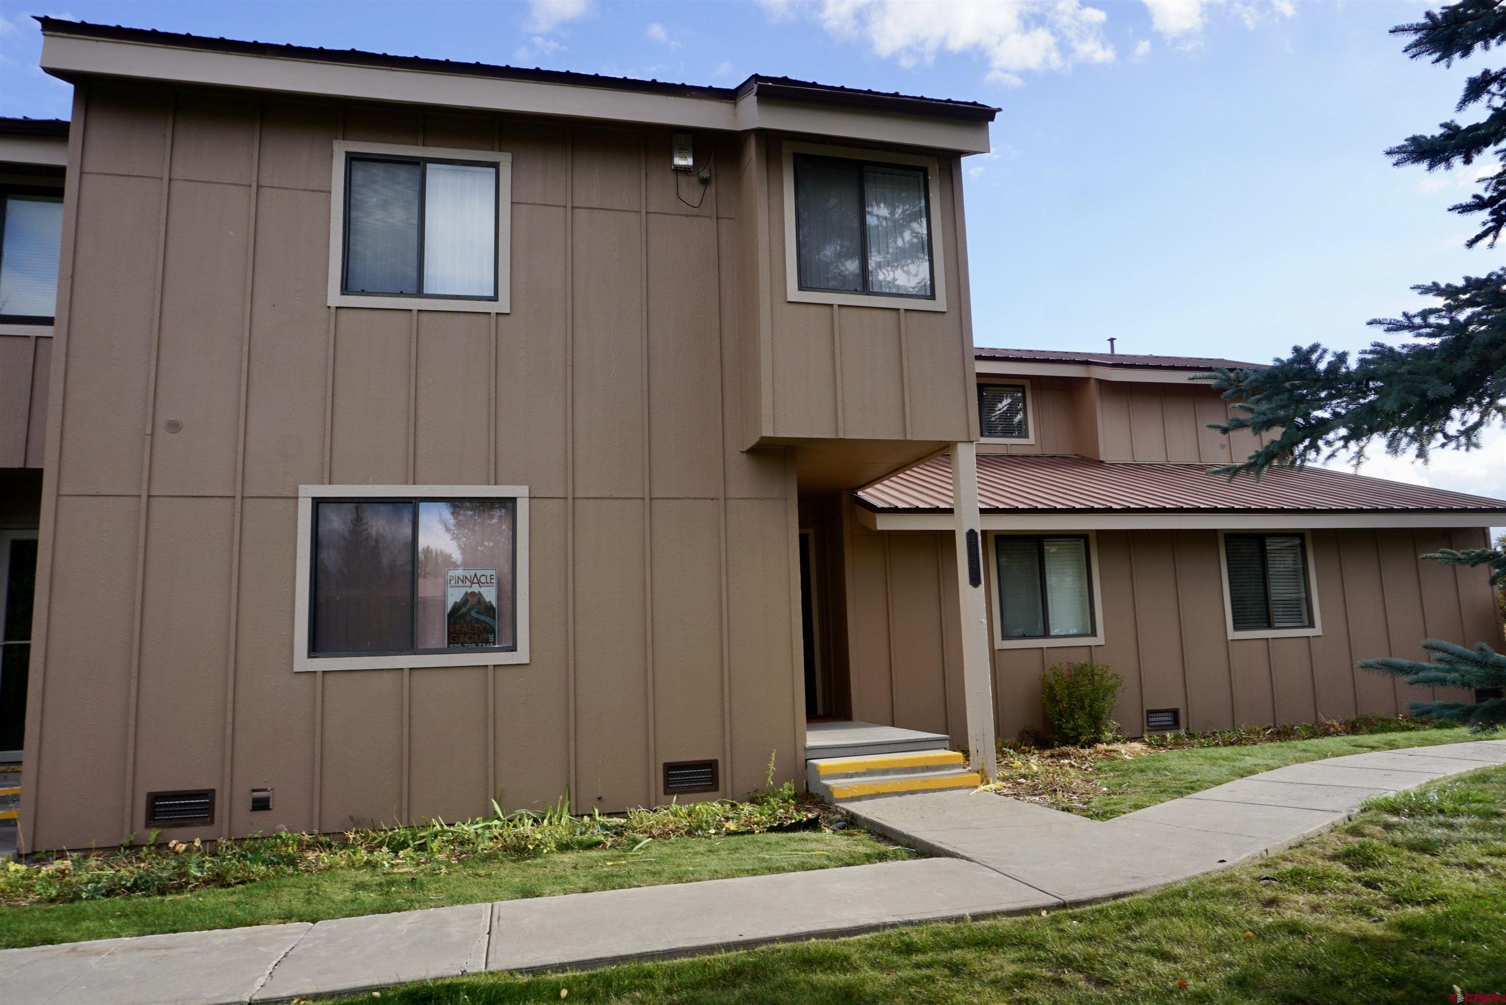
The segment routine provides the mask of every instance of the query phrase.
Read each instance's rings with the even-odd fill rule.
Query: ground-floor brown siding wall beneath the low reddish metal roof
[[[848,521],[852,715],[946,731],[965,743],[956,588],[949,533],[875,533]],[[1322,635],[1227,638],[1217,531],[1098,531],[1104,645],[994,650],[998,734],[1041,730],[1041,673],[1108,663],[1125,679],[1116,710],[1131,736],[1146,709],[1181,709],[1193,730],[1396,715],[1411,701],[1473,701],[1355,669],[1379,656],[1420,659],[1423,638],[1500,645],[1483,569],[1419,560],[1479,548],[1476,530],[1312,533]],[[997,600],[989,596],[989,620]]]

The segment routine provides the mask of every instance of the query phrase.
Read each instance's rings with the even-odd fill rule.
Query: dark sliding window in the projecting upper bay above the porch
[[[932,299],[925,170],[797,156],[795,259],[803,290]]]

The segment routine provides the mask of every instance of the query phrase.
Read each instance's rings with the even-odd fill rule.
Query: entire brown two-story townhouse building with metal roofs
[[[26,849],[741,796],[810,719],[988,773],[1057,659],[1139,733],[1498,633],[1416,552],[1506,504],[1217,493],[1206,361],[974,351],[994,108],[41,21]]]

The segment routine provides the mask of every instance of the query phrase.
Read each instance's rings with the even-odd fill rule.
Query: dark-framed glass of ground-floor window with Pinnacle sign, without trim
[[[515,499],[313,506],[312,656],[515,647]]]

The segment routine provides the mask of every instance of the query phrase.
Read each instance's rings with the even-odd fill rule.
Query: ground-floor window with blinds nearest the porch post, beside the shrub
[[[1017,638],[1093,635],[1093,581],[1087,537],[994,537],[998,633]]]

